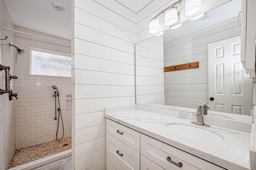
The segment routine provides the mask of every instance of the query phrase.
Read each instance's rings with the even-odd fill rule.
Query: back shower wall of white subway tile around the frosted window
[[[32,31],[15,26],[18,31],[32,33],[52,39],[60,39],[52,35]],[[66,39],[60,39],[68,41]],[[59,53],[71,53],[71,45],[38,39],[19,33],[14,34],[14,43],[26,52],[18,55],[17,63],[14,63],[14,92],[18,92],[18,100],[15,100],[15,145],[16,149],[37,145],[56,140],[58,119],[55,117],[55,98],[52,85],[60,91],[60,108],[64,122],[64,137],[71,136],[71,109],[67,109],[66,103],[71,100],[71,78],[56,76],[30,75],[30,52],[34,47]],[[58,108],[58,98],[57,98]],[[57,111],[58,118],[58,111]],[[60,119],[58,139],[62,137],[62,123]]]

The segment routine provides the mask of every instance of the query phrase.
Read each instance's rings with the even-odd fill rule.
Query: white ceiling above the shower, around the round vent
[[[58,12],[52,2],[65,8]],[[14,25],[71,39],[71,0],[4,0]]]

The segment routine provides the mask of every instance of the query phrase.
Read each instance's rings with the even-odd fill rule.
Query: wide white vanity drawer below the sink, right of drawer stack
[[[141,154],[166,170],[224,170],[146,135],[141,134],[140,140]],[[179,162],[182,163],[180,168]]]

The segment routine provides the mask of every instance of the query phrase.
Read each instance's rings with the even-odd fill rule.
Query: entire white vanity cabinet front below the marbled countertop
[[[107,170],[224,170],[107,119]]]

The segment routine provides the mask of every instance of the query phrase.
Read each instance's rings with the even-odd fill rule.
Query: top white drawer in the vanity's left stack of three
[[[107,119],[107,133],[140,153],[140,133]]]

